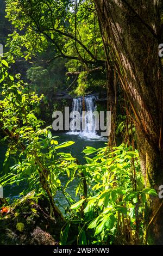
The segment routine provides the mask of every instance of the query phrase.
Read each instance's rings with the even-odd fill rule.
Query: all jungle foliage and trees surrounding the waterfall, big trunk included
[[[6,0],[1,8],[0,127],[8,168],[0,170],[0,184],[26,180],[21,196],[35,190],[48,197],[63,224],[60,245],[161,245],[162,1]],[[74,142],[60,143],[39,115],[40,101],[58,89],[107,91],[111,135],[105,148],[84,149],[86,164],[61,151]],[[76,179],[72,197],[67,188]],[[73,225],[78,234],[70,241]]]

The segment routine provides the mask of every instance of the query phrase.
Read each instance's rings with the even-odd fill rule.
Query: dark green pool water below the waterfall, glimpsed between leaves
[[[101,141],[99,140],[92,140],[92,139],[86,139],[86,138],[81,138],[78,135],[70,135],[70,134],[66,134],[66,133],[57,133],[57,132],[53,132],[53,136],[59,136],[59,138],[57,138],[59,144],[62,142],[66,142],[66,141],[74,141],[75,143],[73,145],[71,145],[70,147],[67,148],[63,148],[62,151],[64,151],[65,153],[71,153],[72,156],[76,157],[79,161],[80,164],[84,164],[85,163],[85,159],[84,159],[84,154],[82,153],[83,149],[86,146],[89,147],[94,147],[94,148],[101,148],[101,147],[105,147],[105,141]],[[0,146],[0,154],[1,154],[1,158],[0,158],[0,172],[1,175],[3,173],[3,162],[4,162],[4,155],[5,155],[5,150],[6,148],[4,147],[4,145]],[[8,166],[9,168],[9,166]],[[64,182],[64,178],[62,180],[62,182]],[[71,187],[67,189],[67,192],[71,194],[71,196],[74,198],[74,188],[76,187],[77,182],[74,182],[74,184],[71,183]],[[6,187],[4,187],[4,197],[10,197],[11,199],[17,198],[19,193],[22,192],[24,190],[24,188],[26,188],[26,183],[21,183],[19,186],[16,184],[12,184],[12,185],[8,185]],[[67,205],[67,201],[66,199],[62,196],[61,193],[58,193],[57,196],[57,201],[62,205],[62,206],[66,206]]]

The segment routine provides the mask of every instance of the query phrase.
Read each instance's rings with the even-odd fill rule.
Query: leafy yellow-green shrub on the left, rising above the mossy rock
[[[42,96],[28,93],[20,76],[9,74],[6,60],[2,59],[0,68],[0,129],[2,141],[7,144],[4,165],[11,159],[15,161],[15,165],[1,176],[0,184],[6,186],[26,181],[30,190],[35,188],[36,192],[45,192],[54,217],[65,222],[54,196],[61,189],[60,174],[66,173],[68,168],[70,176],[71,163],[75,159],[70,154],[64,154],[64,157],[57,154],[57,150],[74,142],[59,144],[56,137],[52,137],[50,127],[43,128],[43,121],[36,118],[35,107]]]

